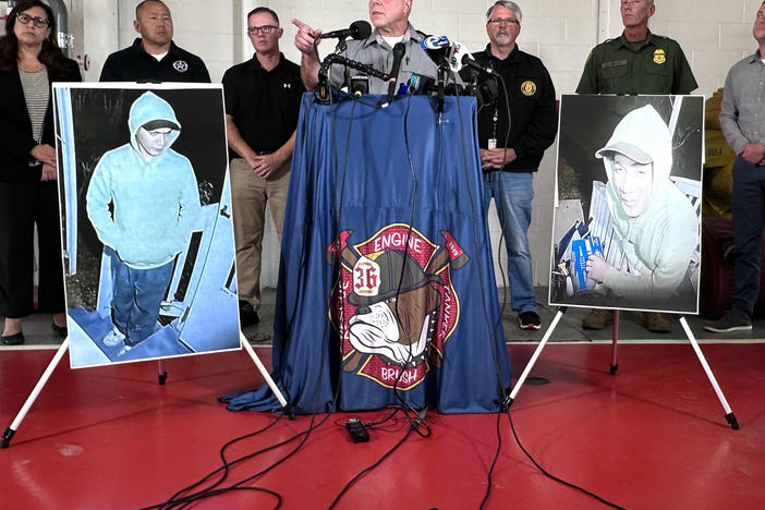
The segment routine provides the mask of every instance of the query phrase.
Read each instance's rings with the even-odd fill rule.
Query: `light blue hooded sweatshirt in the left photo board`
[[[157,120],[179,129],[171,131],[165,150],[146,160],[136,133]],[[127,266],[150,269],[185,248],[201,211],[199,193],[191,162],[170,148],[181,124],[167,101],[143,94],[130,109],[127,125],[130,143],[106,153],[93,172],[86,209],[105,245]]]

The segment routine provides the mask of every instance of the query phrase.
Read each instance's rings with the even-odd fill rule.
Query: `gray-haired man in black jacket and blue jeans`
[[[515,2],[497,1],[486,17],[489,44],[474,58],[493,69],[499,83],[496,100],[478,112],[484,210],[494,196],[508,251],[510,304],[518,314],[518,326],[539,329],[526,232],[534,198],[533,173],[558,132],[555,88],[542,61],[515,45],[521,8]]]

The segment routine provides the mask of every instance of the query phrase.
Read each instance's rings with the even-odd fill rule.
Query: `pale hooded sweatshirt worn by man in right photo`
[[[651,201],[636,217],[624,211],[612,182],[614,153],[631,157],[630,146],[649,156],[653,165]],[[619,296],[671,298],[683,282],[699,243],[699,219],[688,197],[669,180],[672,145],[667,124],[649,105],[632,110],[595,156],[603,158],[606,167],[606,201],[629,264],[629,272],[609,268],[604,284]]]

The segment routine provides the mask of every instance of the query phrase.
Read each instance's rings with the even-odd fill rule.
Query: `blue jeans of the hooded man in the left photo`
[[[151,269],[135,269],[110,247],[104,250],[111,257],[112,319],[125,336],[125,343],[135,345],[146,340],[157,326],[159,305],[172,279],[172,262]]]

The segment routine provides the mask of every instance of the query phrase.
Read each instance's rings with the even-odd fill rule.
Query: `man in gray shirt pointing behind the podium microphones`
[[[393,63],[392,48],[397,42],[403,42],[405,52],[401,61],[398,76],[399,83],[408,83],[412,74],[436,76],[437,65],[425,53],[420,42],[425,34],[415,31],[409,23],[412,11],[412,0],[371,0],[369,21],[375,29],[364,40],[349,40],[348,49],[343,57],[357,62],[372,65],[376,70],[387,73]],[[312,28],[300,20],[292,20],[299,28],[295,35],[295,47],[303,53],[301,58],[301,76],[305,88],[313,90],[318,83],[318,72],[321,66],[317,47],[321,39],[323,31]],[[332,85],[341,87],[348,83],[349,73],[336,65],[331,73]],[[369,94],[386,94],[388,82],[377,77],[369,77]]]

